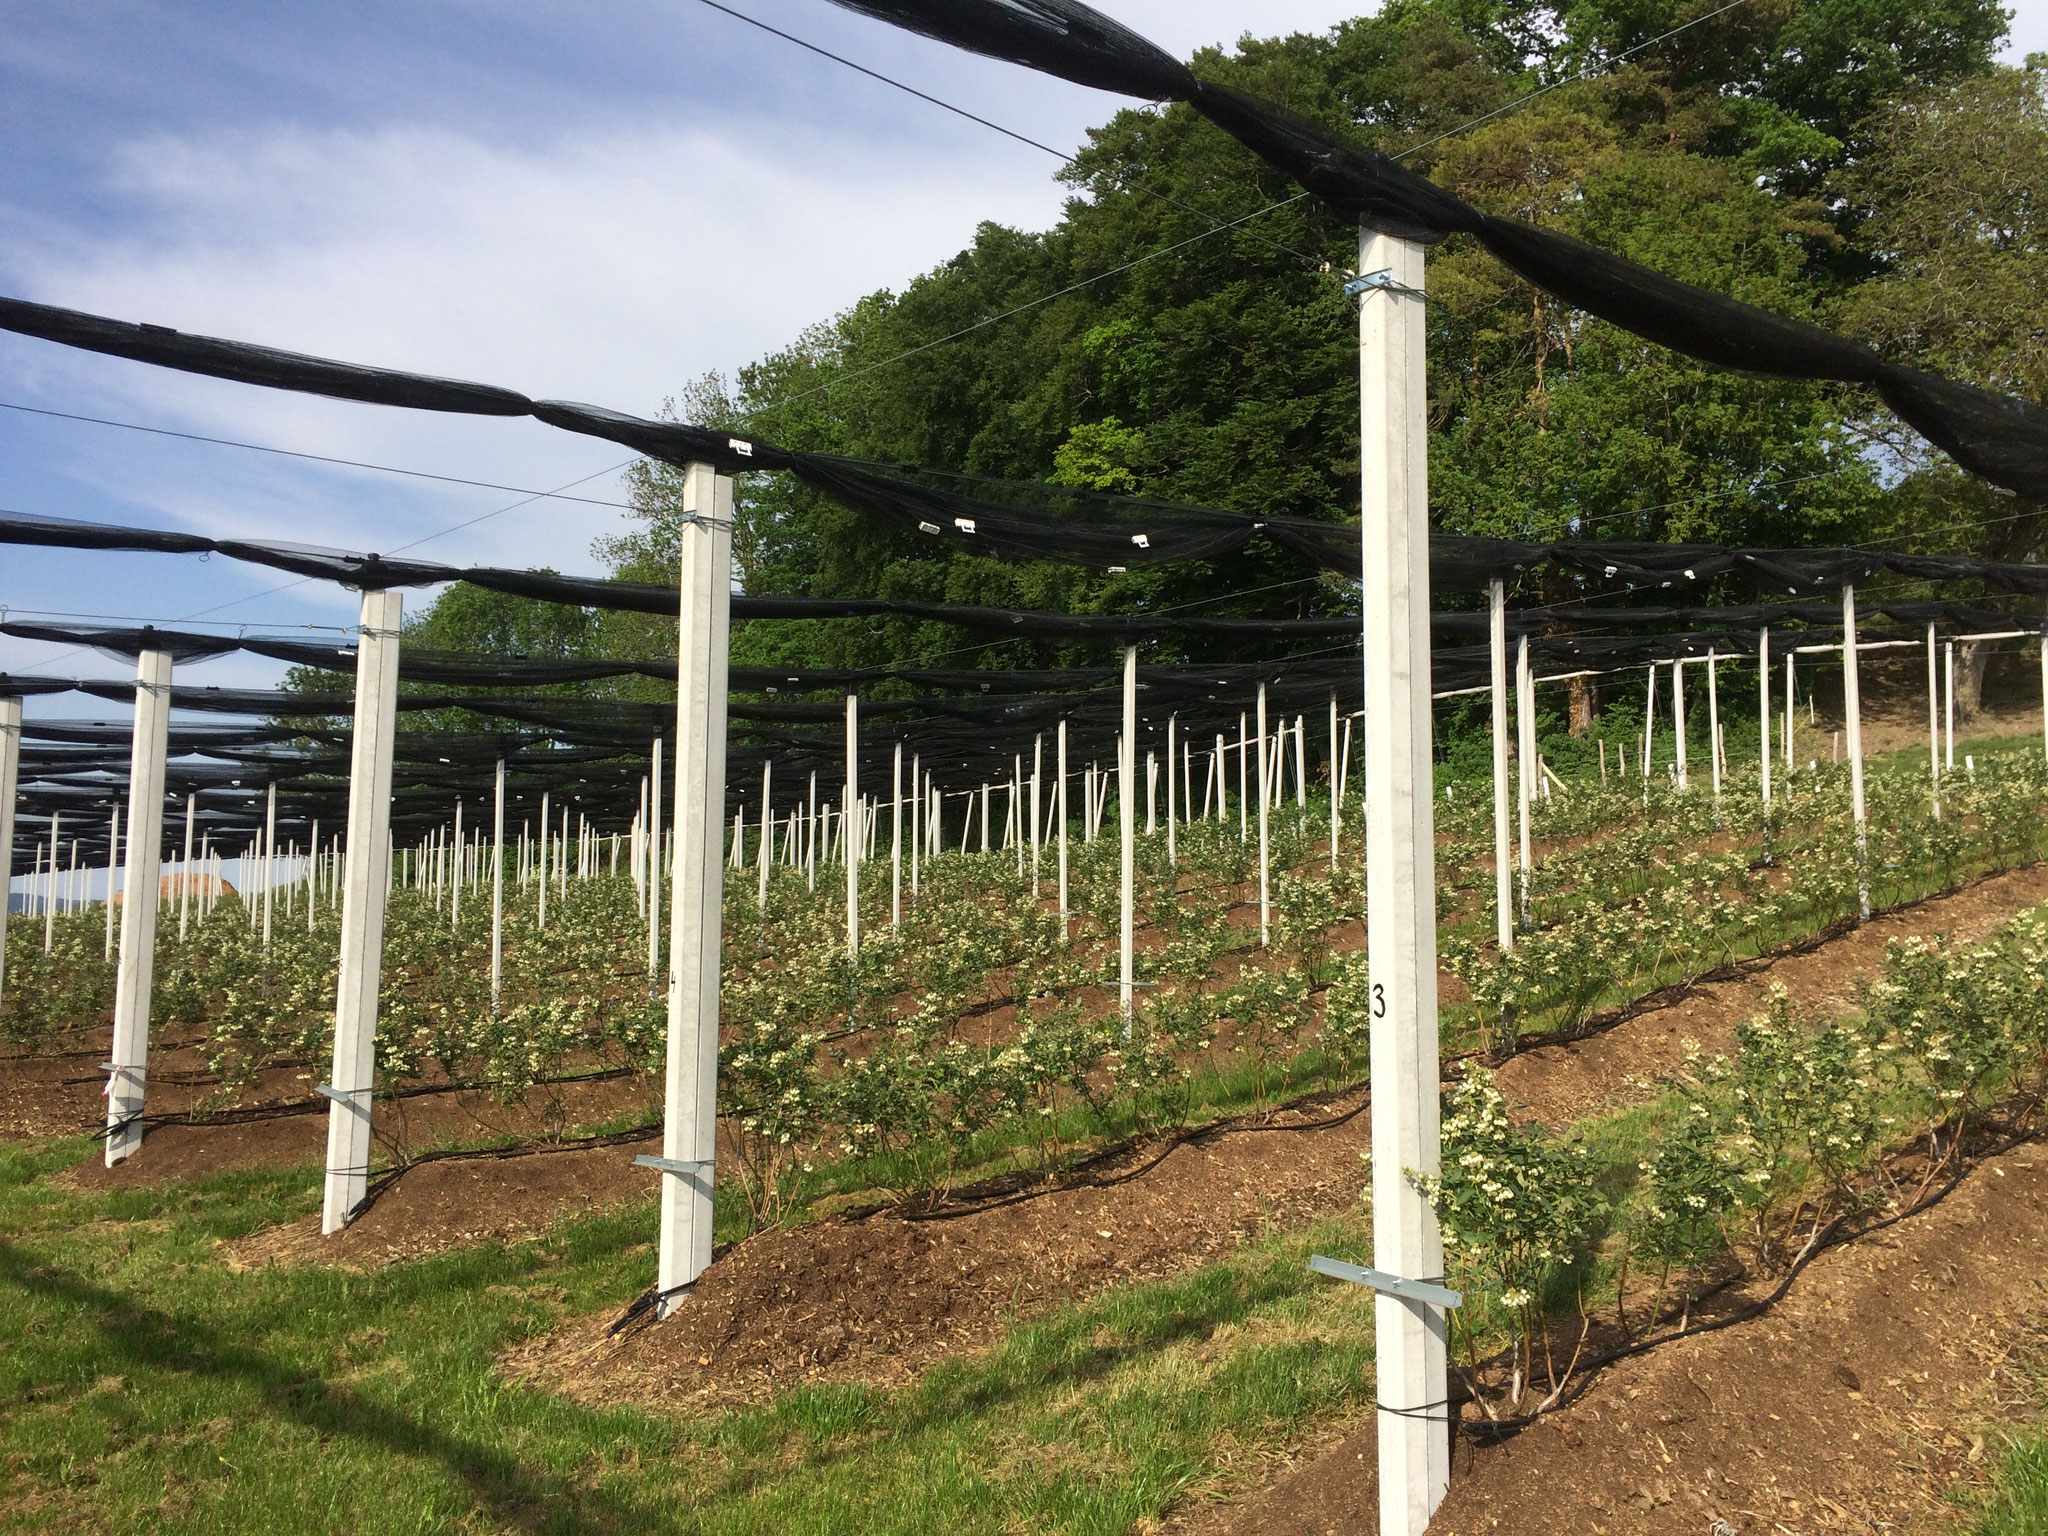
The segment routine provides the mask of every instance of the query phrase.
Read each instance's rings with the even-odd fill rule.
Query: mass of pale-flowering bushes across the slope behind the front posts
[[[1649,807],[1620,776],[1532,801],[1536,838],[1571,846],[1528,870],[1520,942],[1507,950],[1489,936],[1485,911],[1489,807],[1444,801],[1442,950],[1470,991],[1470,1006],[1452,1014],[1454,1042],[1497,1053],[1518,1034],[1571,1032],[1604,1006],[1855,913],[1845,770],[1782,776],[1765,805],[1753,766],[1731,768],[1720,795],[1679,788],[1675,762],[1669,768],[1653,780]],[[2044,791],[2048,776],[2032,758],[2001,754],[1950,786],[1937,819],[1925,774],[1876,774],[1876,899],[1903,901],[2040,856]],[[1141,836],[1145,944],[1128,1028],[1110,1004],[1106,948],[1118,860],[1108,840],[1085,840],[1085,823],[1071,844],[1065,911],[1032,899],[1022,840],[920,860],[907,901],[870,866],[862,907],[874,926],[858,950],[848,950],[829,856],[823,883],[807,856],[819,844],[801,825],[799,858],[756,840],[758,877],[725,897],[719,1106],[754,1219],[791,1214],[825,1157],[879,1155],[905,1192],[934,1196],[1004,1147],[1051,1171],[1102,1135],[1174,1128],[1217,1077],[1235,1077],[1255,1106],[1280,1083],[1354,1079],[1370,1034],[1364,956],[1341,946],[1341,926],[1362,915],[1356,834],[1331,860],[1321,846],[1327,793],[1288,799],[1270,815],[1270,946],[1247,911],[1249,817],[1206,815],[1171,840],[1165,829]],[[1718,852],[1669,852],[1714,834]],[[444,856],[412,868],[385,938],[385,1092],[430,1077],[545,1104],[563,1079],[659,1065],[666,999],[637,956],[647,893],[633,870],[606,866],[606,842],[571,840],[567,856],[547,864],[508,860],[502,983],[487,963],[494,909],[479,899],[479,868]],[[748,844],[731,842],[727,858],[745,862]],[[1042,893],[1051,889],[1047,868]],[[197,1026],[223,1090],[322,1059],[340,940],[332,881],[295,881],[270,901],[219,897],[217,887],[209,897],[186,913],[182,934],[166,926],[158,942],[152,1016]],[[268,940],[266,905],[276,918]],[[102,913],[14,924],[0,1014],[8,1034],[47,1040],[94,1018],[115,981]],[[51,938],[47,952],[33,942],[37,926]]]

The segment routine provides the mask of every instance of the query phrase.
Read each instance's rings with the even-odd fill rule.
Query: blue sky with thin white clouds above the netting
[[[825,0],[776,27],[1071,147],[1120,100]],[[1116,0],[1188,53],[1325,27],[1358,0]],[[0,293],[655,412],[981,219],[1042,227],[1049,156],[698,0],[348,6],[10,0],[0,27]],[[2048,49],[2023,0],[2013,55]],[[0,336],[0,401],[618,498],[625,453],[535,422],[279,395]],[[395,549],[518,498],[0,410],[0,506]],[[537,502],[422,553],[592,571],[606,506]],[[352,623],[350,594],[225,559],[0,547],[8,612]],[[410,594],[408,604],[426,594]],[[115,676],[0,639],[0,668]],[[190,682],[279,668],[209,662]],[[102,715],[39,700],[35,713]]]

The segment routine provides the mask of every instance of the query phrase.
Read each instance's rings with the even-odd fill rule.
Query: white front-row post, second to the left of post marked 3
[[[371,1085],[377,1077],[377,987],[391,889],[391,752],[397,737],[399,592],[367,590],[356,633],[356,717],[348,754],[348,858],[334,999],[334,1100],[319,1231],[354,1217],[371,1174]]]

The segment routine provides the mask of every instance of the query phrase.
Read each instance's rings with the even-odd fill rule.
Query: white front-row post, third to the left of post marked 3
[[[129,868],[121,903],[121,967],[115,973],[115,1040],[106,1079],[106,1167],[141,1147],[150,1071],[150,985],[156,971],[156,909],[164,850],[164,748],[170,735],[170,653],[135,657],[135,737],[129,750]],[[113,883],[106,905],[113,911]]]

